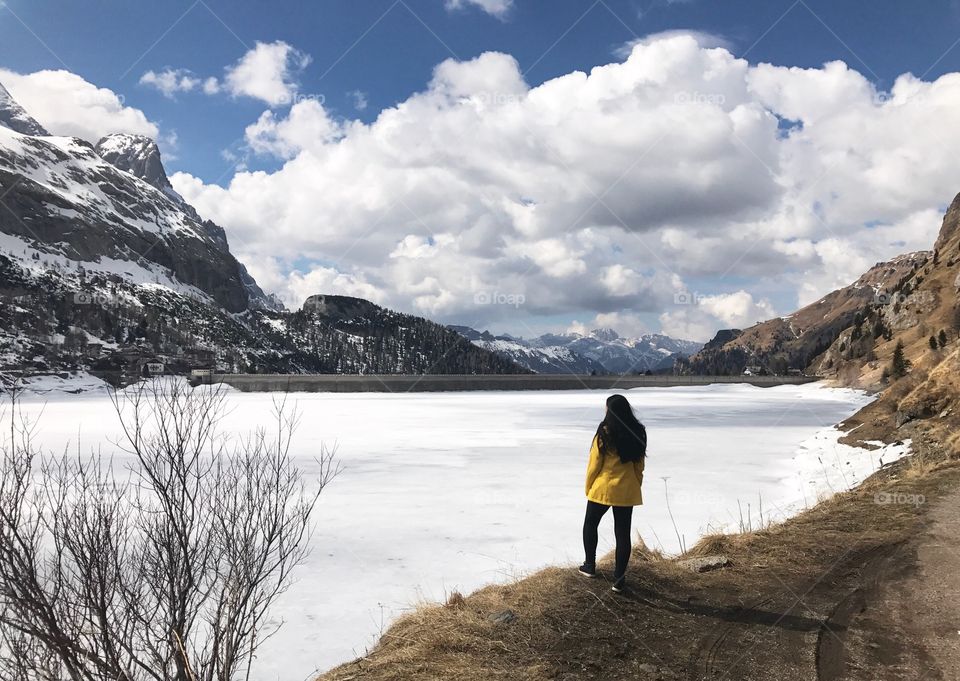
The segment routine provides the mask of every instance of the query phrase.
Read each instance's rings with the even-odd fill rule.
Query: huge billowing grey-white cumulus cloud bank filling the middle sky
[[[297,263],[277,290],[369,286],[514,332],[633,315],[704,339],[929,246],[960,188],[960,128],[943,125],[958,105],[956,74],[878,92],[839,62],[751,65],[666,35],[535,87],[509,55],[447,60],[371,123],[299,102],[247,129],[278,170],[173,182],[241,257]]]

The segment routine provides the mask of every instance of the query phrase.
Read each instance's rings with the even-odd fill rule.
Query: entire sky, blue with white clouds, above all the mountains
[[[948,161],[954,140],[941,130],[953,93],[941,77],[960,71],[954,1],[0,4],[0,68],[68,71],[115,93],[122,111],[90,130],[132,125],[156,134],[168,170],[180,171],[178,190],[224,225],[258,280],[291,306],[323,287],[518,335],[607,324],[704,338],[788,313],[878,259],[927,247],[937,211],[960,189]],[[698,50],[670,42],[682,32]],[[632,91],[597,78],[562,94],[561,83],[579,82],[572,74],[622,64],[624,46],[647,36],[660,47],[624,67],[622,77],[637,79]],[[228,86],[227,69],[260,46],[288,51],[283,87],[292,102]],[[719,66],[715,47],[726,50]],[[845,66],[824,66],[833,61]],[[164,94],[145,78],[164,71],[194,84]],[[908,73],[919,85],[907,79],[894,97]],[[18,78],[8,73],[8,87],[32,98],[27,108],[41,122],[82,134],[66,119],[87,120],[89,111],[74,114],[52,94],[44,100],[40,79]],[[211,78],[216,92],[205,94],[200,83]],[[738,80],[745,90],[731,86]],[[612,88],[609,99],[598,87]],[[635,121],[655,127],[676,114],[654,110],[654,90],[660,104],[692,107],[676,119],[689,129],[639,139]],[[491,93],[496,105],[484,106]],[[602,121],[575,149],[569,140],[582,130],[576,116],[563,118],[563,97],[577,100],[571,110],[589,109],[584,121]],[[510,129],[514,98],[526,108],[526,129],[508,132],[516,137],[499,156],[487,153],[503,139],[496,131]],[[555,125],[541,125],[541,99],[550,111],[560,107]],[[895,106],[901,100],[910,108]],[[621,109],[632,113],[610,113]],[[391,121],[377,122],[384,111]],[[742,128],[744,111],[780,123]],[[472,123],[458,123],[467,113]],[[461,126],[454,137],[436,132],[448,125]],[[371,151],[397,126],[409,148]],[[893,132],[884,130],[900,137],[888,144]],[[483,133],[492,136],[481,143]],[[528,146],[541,157],[528,158]],[[516,158],[515,149],[523,150]],[[844,149],[857,158],[837,160]],[[924,160],[941,152],[940,165]],[[512,165],[525,170],[510,174]],[[432,174],[418,176],[424,168]],[[650,189],[664,168],[669,181]],[[903,178],[922,186],[907,191]],[[369,191],[351,198],[357,183]],[[577,183],[586,187],[582,200],[568,196]],[[304,193],[314,189],[320,198],[310,204]],[[724,197],[731,205],[712,211]],[[580,217],[561,224],[571,215]],[[477,291],[525,302],[478,307],[470,302]],[[678,307],[678,293],[704,304]]]

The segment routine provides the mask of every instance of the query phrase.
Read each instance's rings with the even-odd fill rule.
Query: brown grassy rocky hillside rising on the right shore
[[[740,373],[750,366],[774,374],[790,369],[844,385],[879,389],[897,343],[921,372],[937,364],[960,333],[960,195],[943,218],[934,250],[878,263],[850,286],[792,315],[752,326],[724,343],[708,344],[681,368]],[[940,331],[947,344],[934,351]]]

